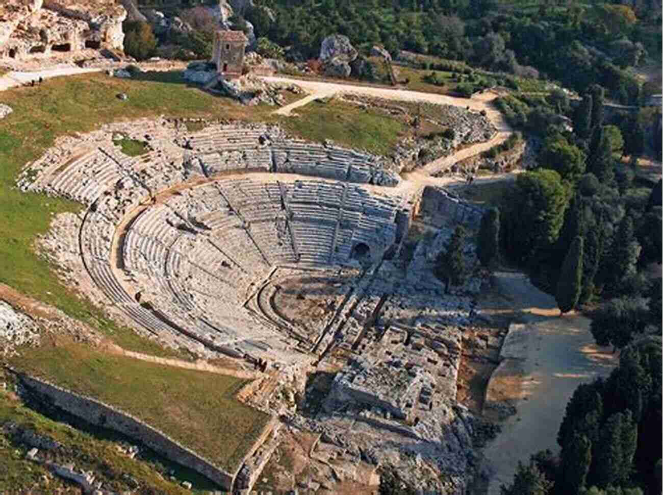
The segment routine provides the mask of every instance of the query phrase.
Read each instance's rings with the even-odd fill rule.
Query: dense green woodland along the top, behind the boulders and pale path
[[[579,91],[597,82],[621,102],[640,98],[627,69],[642,60],[644,44],[660,50],[647,25],[654,19],[638,20],[626,5],[496,7],[493,0],[262,0],[241,14],[257,36],[292,46],[302,59],[316,57],[325,36],[341,33],[364,48],[379,43],[392,54],[404,49],[521,76],[546,74]]]

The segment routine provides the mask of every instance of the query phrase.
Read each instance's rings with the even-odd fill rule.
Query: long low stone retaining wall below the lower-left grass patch
[[[50,403],[93,425],[118,431],[128,437],[137,439],[156,453],[166,457],[166,459],[173,460],[182,466],[199,472],[219,484],[224,490],[231,490],[234,474],[229,474],[215,466],[210,460],[190,451],[165,433],[143,423],[140,419],[111,405],[60,388],[40,378],[25,374],[19,374],[19,378],[23,385],[36,393],[44,403]]]

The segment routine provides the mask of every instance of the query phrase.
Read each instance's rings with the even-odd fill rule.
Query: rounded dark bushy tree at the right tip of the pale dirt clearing
[[[641,297],[620,297],[604,303],[593,315],[589,331],[599,346],[623,348],[644,330],[647,305]]]

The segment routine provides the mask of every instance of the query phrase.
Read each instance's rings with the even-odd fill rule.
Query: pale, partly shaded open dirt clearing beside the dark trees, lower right
[[[495,473],[488,495],[499,495],[500,485],[511,482],[518,460],[526,462],[542,449],[559,451],[557,431],[573,391],[609,374],[617,361],[611,349],[595,346],[589,319],[560,318],[554,298],[536,289],[522,273],[495,273],[495,285],[505,304],[496,301],[482,310],[514,312],[524,325],[516,330],[520,334],[507,338],[509,349],[502,351],[519,361],[501,391],[512,399],[517,412],[502,423],[502,432],[484,450]]]

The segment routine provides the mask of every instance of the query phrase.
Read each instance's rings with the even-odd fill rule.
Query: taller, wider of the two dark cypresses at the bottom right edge
[[[633,470],[638,425],[631,411],[611,415],[601,429],[597,459],[593,462],[593,483],[597,486],[623,484]]]

